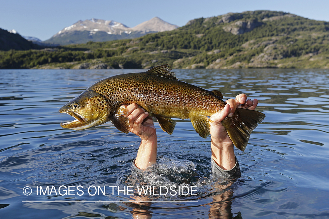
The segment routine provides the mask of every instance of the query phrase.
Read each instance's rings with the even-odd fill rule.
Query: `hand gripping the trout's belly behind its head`
[[[123,105],[128,110],[124,115],[129,118],[129,131],[139,136],[142,140],[149,140],[156,137],[156,129],[153,119],[148,117],[148,112],[145,112],[136,103]]]

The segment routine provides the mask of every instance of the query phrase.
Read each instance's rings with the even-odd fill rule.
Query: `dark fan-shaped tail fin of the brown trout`
[[[224,125],[233,144],[244,151],[251,132],[258,126],[258,123],[265,119],[265,114],[255,111],[237,108],[234,115],[226,117],[222,124]]]

